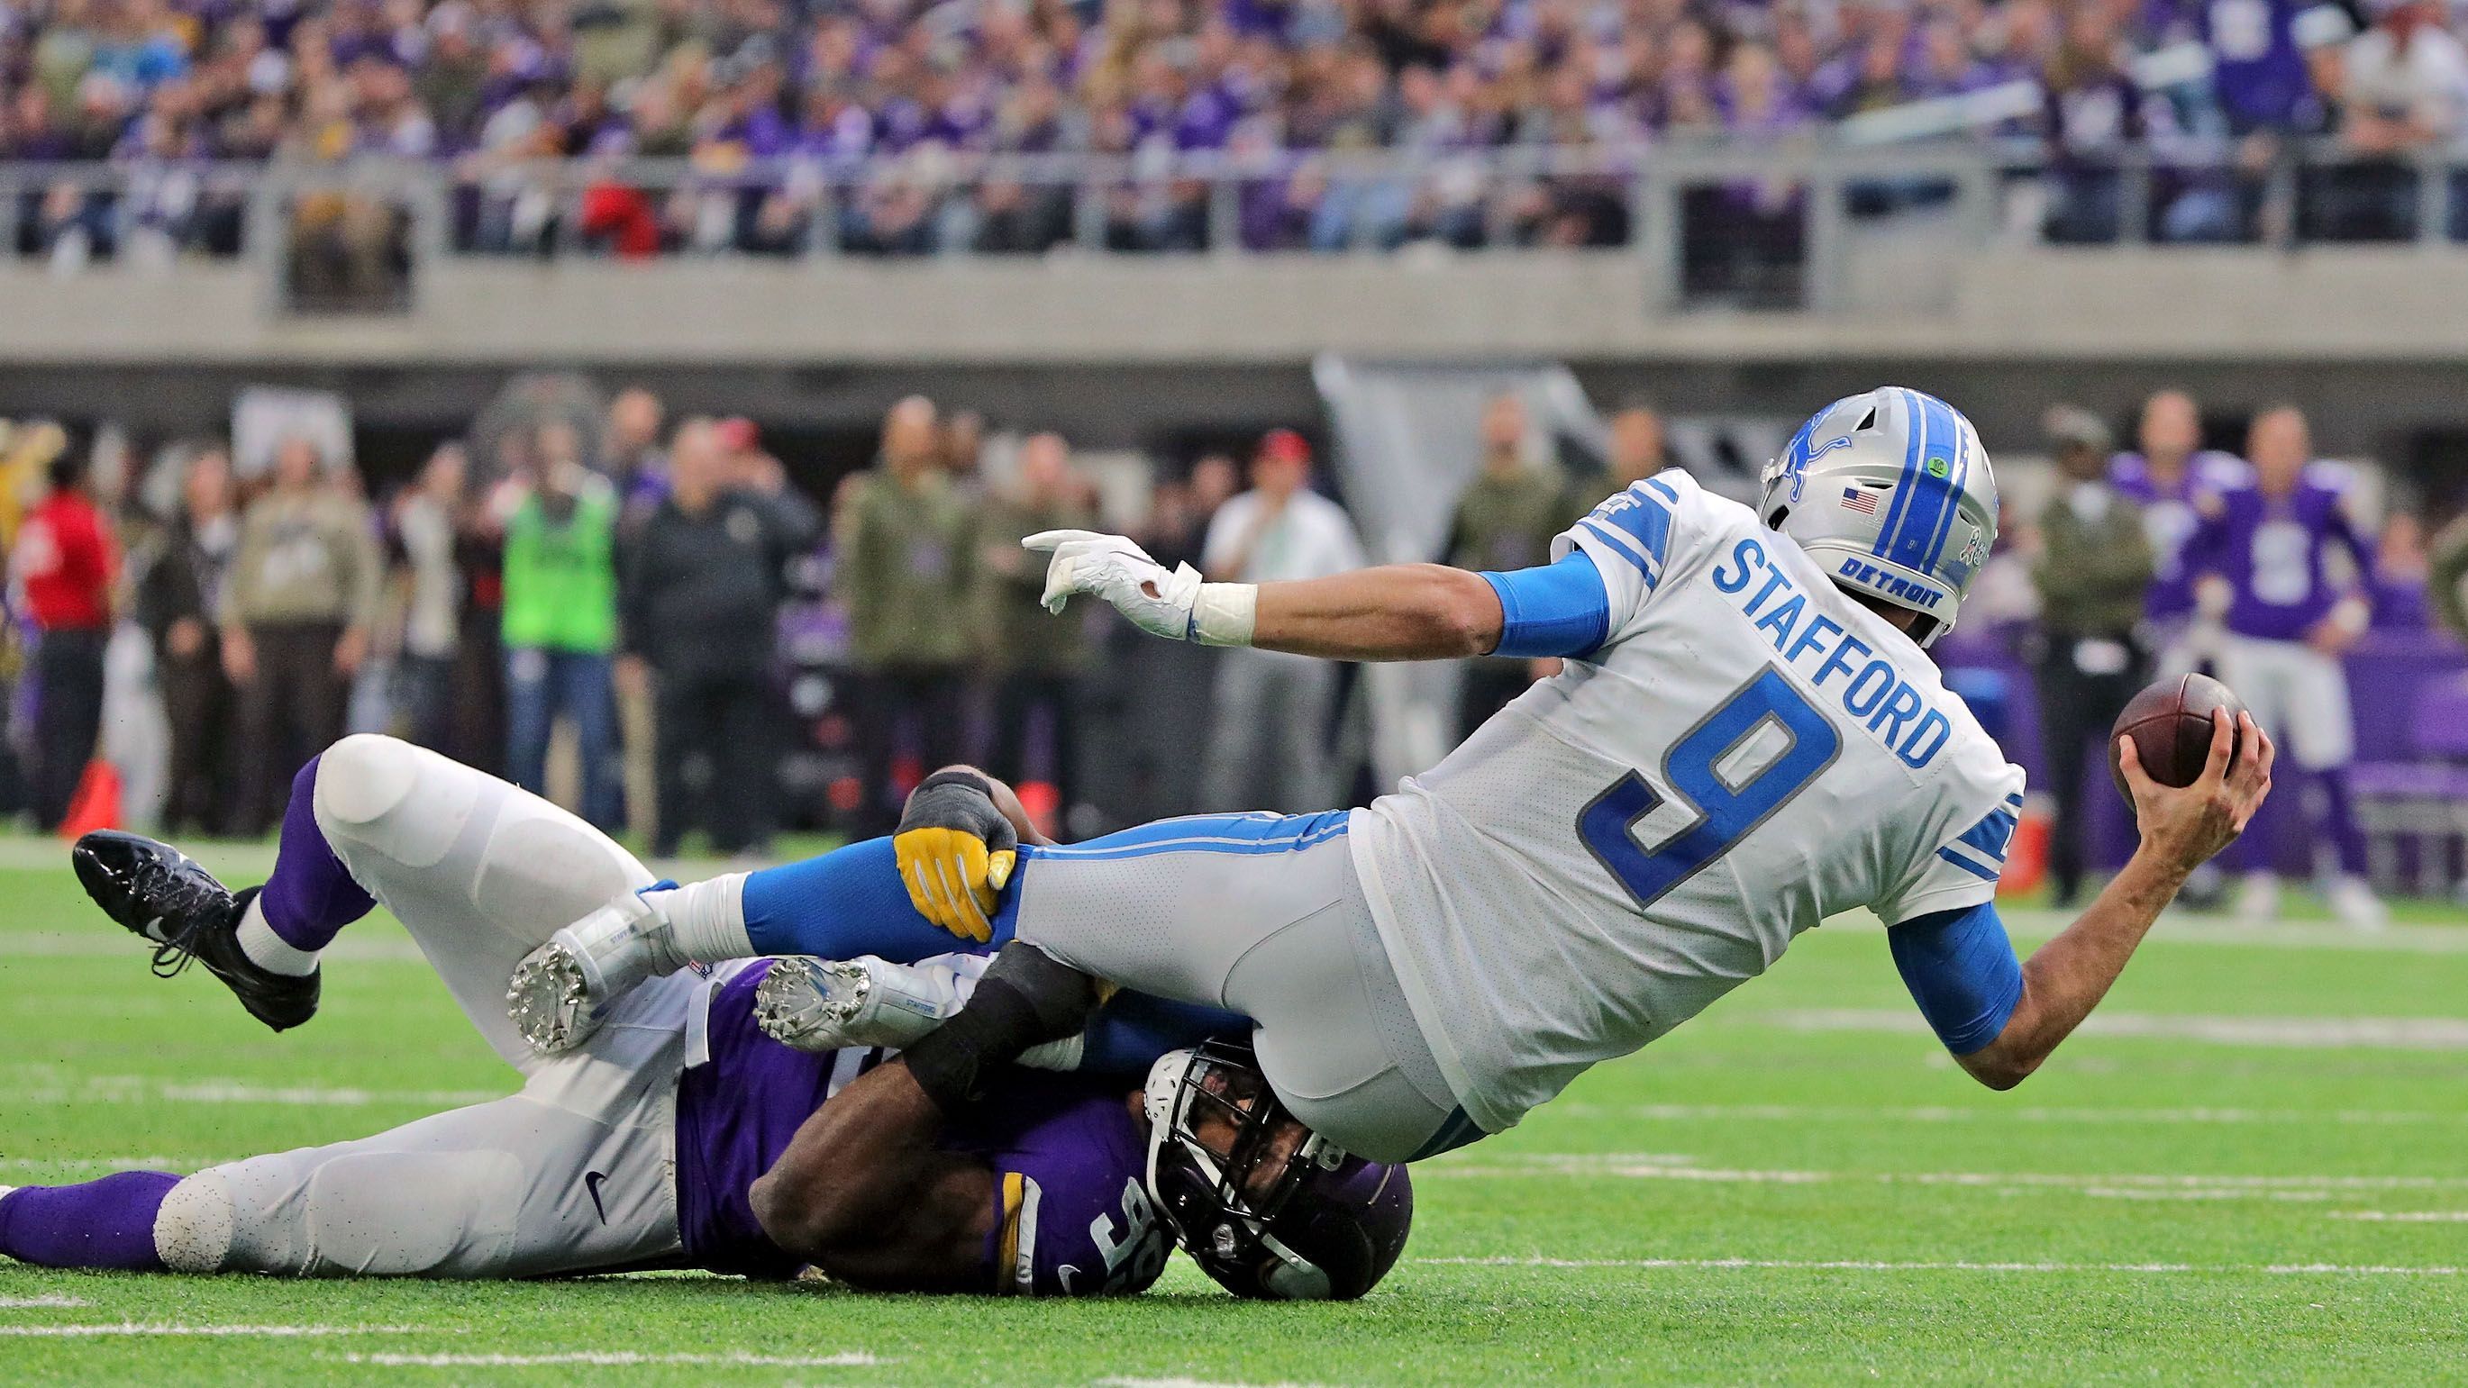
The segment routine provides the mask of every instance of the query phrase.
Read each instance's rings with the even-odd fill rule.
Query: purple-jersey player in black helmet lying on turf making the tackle
[[[1308,1134],[1244,1048],[1160,1058],[1145,1035],[1103,1035],[1128,996],[1071,1038],[1083,1072],[1004,1068],[965,1104],[928,1100],[884,1048],[772,1040],[763,984],[817,964],[805,959],[674,974],[627,994],[578,1050],[538,1055],[506,1016],[513,961],[652,875],[563,809],[390,737],[348,737],[301,769],[264,888],[230,892],[131,833],[89,833],[74,863],[155,944],[158,974],[202,961],[276,1031],[308,1021],[318,952],[383,900],[523,1087],[193,1176],[5,1191],[0,1255],[22,1262],[304,1277],[812,1267],[884,1292],[1093,1297],[1153,1284],[1182,1233],[1239,1294],[1360,1297],[1404,1247],[1404,1171]],[[985,961],[955,964],[972,976]],[[1128,1075],[1096,1072],[1088,1055],[1108,1048]]]

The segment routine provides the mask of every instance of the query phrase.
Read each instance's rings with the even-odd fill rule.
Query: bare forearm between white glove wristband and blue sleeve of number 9
[[[1259,587],[1251,646],[1333,661],[1451,661],[1501,641],[1501,599],[1481,574],[1382,565]]]

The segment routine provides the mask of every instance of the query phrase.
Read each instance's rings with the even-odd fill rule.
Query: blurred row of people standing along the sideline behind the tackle
[[[2125,434],[2048,412],[2053,481],[2009,486],[1999,552],[1937,651],[1947,668],[2006,661],[2036,688],[2058,900],[2100,860],[2095,737],[2155,673],[2211,668],[2290,745],[2285,779],[2320,784],[2303,804],[2337,848],[2332,900],[2374,920],[2340,661],[2377,629],[2468,636],[2468,520],[2429,537],[2391,496],[2367,520],[2288,407],[2253,417],[2243,456],[2204,449],[2179,392]],[[874,463],[827,496],[829,478],[792,481],[753,422],[671,422],[639,387],[491,407],[375,503],[308,436],[254,466],[210,439],[111,454],[49,424],[0,436],[22,676],[0,801],[42,828],[72,816],[101,745],[123,769],[160,762],[131,779],[158,786],[170,828],[264,833],[294,769],[346,730],[553,791],[659,855],[760,855],[782,821],[879,833],[916,777],[955,759],[1019,782],[1074,833],[1202,806],[1311,811],[1365,789],[1343,668],[1135,641],[1103,609],[1049,616],[1044,562],[1019,547],[1106,525],[1209,579],[1360,567],[1355,520],[1315,486],[1293,429],[1249,459],[1125,456],[1128,520],[1098,505],[1098,476],[1061,436],[990,434],[923,397],[886,412]],[[1577,515],[1676,466],[1644,404],[1570,459],[1518,394],[1493,399],[1431,557],[1547,562]],[[1552,668],[1468,661],[1459,727]],[[128,725],[148,720],[160,747],[133,752]],[[800,796],[785,769],[812,754],[819,794]],[[1091,772],[1111,784],[1093,791]],[[1135,796],[1125,774],[1165,791]],[[2268,915],[2266,888],[2248,885],[2253,915]]]

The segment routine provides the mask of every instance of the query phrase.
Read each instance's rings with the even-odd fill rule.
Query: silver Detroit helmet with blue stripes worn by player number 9
[[[1757,518],[1844,589],[1908,606],[1928,646],[1997,542],[1997,476],[1979,431],[1935,394],[1898,385],[1819,409],[1765,466]]]

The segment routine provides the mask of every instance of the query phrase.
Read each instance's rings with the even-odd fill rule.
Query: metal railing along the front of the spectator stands
[[[232,165],[0,163],[0,261],[232,259],[284,306],[407,303],[444,256],[1466,254],[1626,249],[1671,306],[1841,303],[1849,247],[2468,242],[2468,148],[2226,141]],[[1925,229],[1925,232],[1920,232]],[[370,293],[383,266],[392,301]],[[313,281],[313,284],[311,284]],[[365,301],[365,303],[363,303]],[[311,303],[313,306],[313,303]]]

